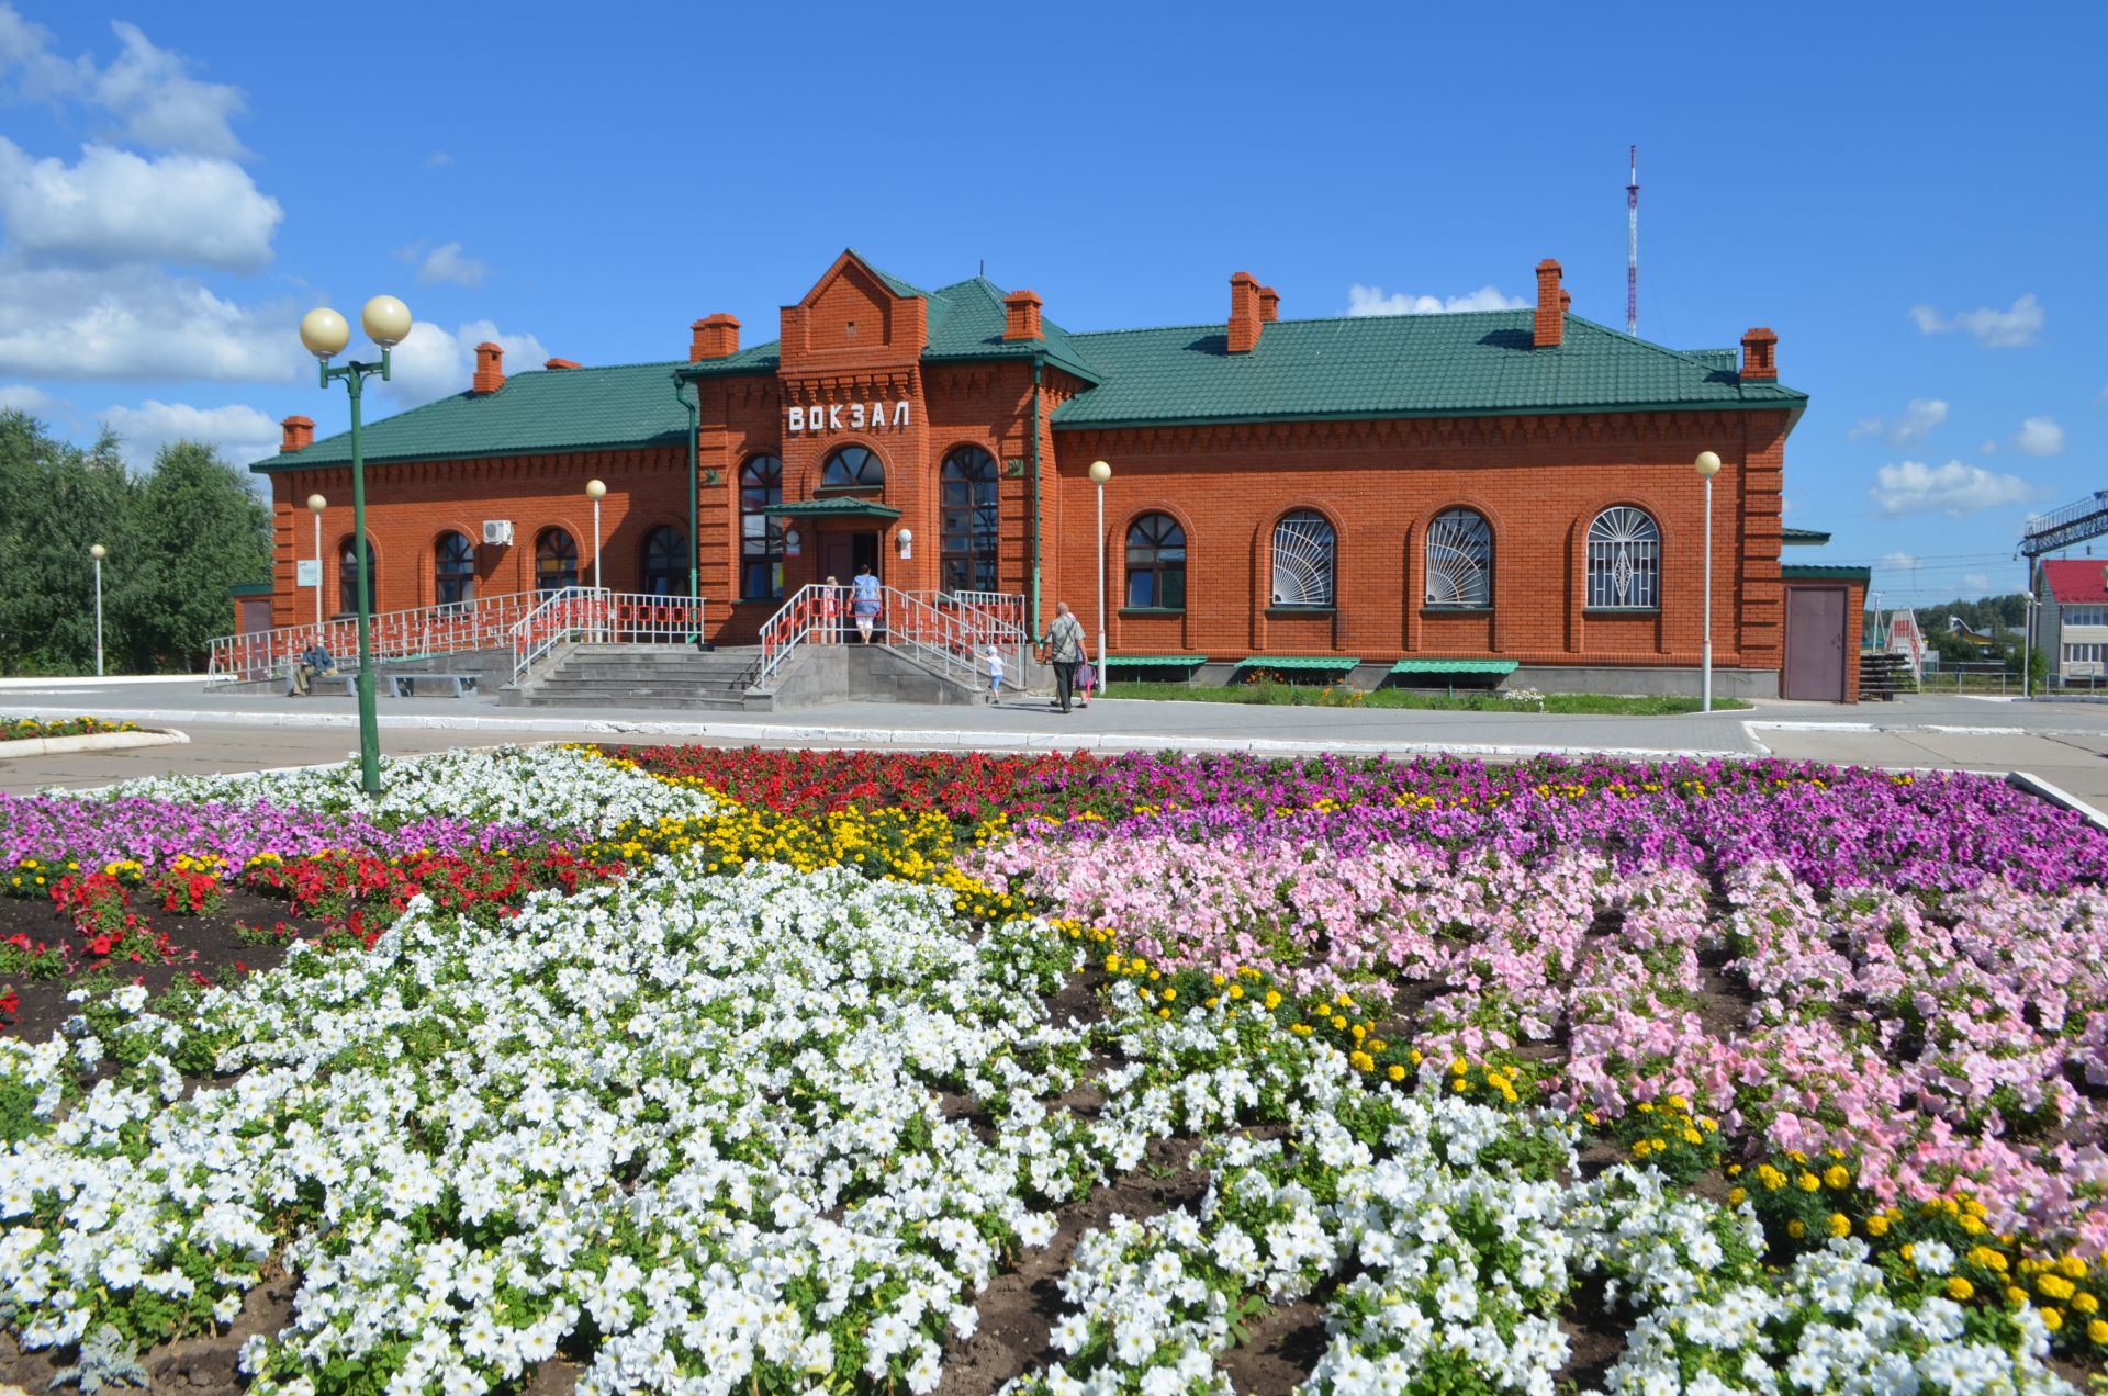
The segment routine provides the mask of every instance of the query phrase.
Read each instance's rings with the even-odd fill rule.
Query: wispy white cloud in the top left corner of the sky
[[[238,86],[198,82],[179,53],[156,49],[139,25],[112,21],[122,53],[110,67],[95,59],[61,59],[51,32],[0,4],[0,78],[23,101],[80,101],[122,122],[118,135],[154,150],[236,158],[232,120],[249,105]]]

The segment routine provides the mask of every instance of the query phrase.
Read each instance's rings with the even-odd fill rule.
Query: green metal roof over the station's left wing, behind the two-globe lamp
[[[687,409],[672,396],[672,363],[508,373],[497,392],[455,392],[365,426],[367,462],[527,455],[586,447],[683,445]],[[352,434],[268,455],[259,474],[341,466]]]

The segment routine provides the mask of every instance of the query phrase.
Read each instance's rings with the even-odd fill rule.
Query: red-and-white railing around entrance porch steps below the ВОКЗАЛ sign
[[[904,649],[925,668],[970,687],[987,683],[989,649],[1003,656],[1003,687],[1024,692],[1024,660],[1031,637],[1016,620],[1024,616],[1022,597],[1001,593],[942,595],[932,601],[894,586],[881,586],[877,612],[871,618],[873,643]],[[982,597],[995,605],[982,605]],[[1008,603],[1016,603],[1010,607]],[[1012,620],[1016,616],[1016,620]],[[860,643],[856,628],[856,590],[852,586],[803,586],[784,601],[761,626],[761,658],[748,673],[748,683],[767,687],[799,645]]]

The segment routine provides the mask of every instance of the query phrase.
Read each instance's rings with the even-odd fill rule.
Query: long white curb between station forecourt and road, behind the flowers
[[[0,717],[13,709],[0,706]],[[148,709],[126,713],[133,721],[255,725],[255,728],[356,728],[356,713],[198,713],[183,709]],[[438,713],[392,713],[377,719],[392,730],[491,732],[495,736],[691,736],[721,742],[833,742],[843,747],[909,747],[968,751],[1261,751],[1261,753],[1324,753],[1345,755],[1459,755],[1459,757],[1535,757],[1589,755],[1661,761],[1672,757],[1748,759],[1748,751],[1661,751],[1653,747],[1587,747],[1587,744],[1507,744],[1507,742],[1343,742],[1326,738],[1242,738],[1180,736],[1151,732],[978,732],[972,728],[847,728],[822,723],[710,723],[710,721],[643,721],[643,719],[516,719],[516,717],[449,717]]]

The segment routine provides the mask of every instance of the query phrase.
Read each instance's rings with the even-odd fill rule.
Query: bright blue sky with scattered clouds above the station
[[[1549,255],[1621,327],[1638,141],[1640,333],[1779,333],[1823,559],[2013,590],[2026,515],[2108,487],[2108,8],[1455,8],[15,0],[0,405],[253,460],[344,426],[308,306],[409,302],[398,409],[483,337],[774,337],[850,245],[1071,329],[1218,321],[1235,270],[1284,316],[1520,299]]]

